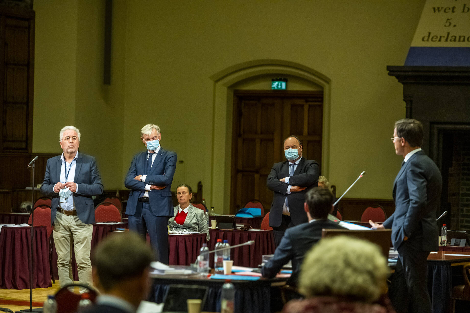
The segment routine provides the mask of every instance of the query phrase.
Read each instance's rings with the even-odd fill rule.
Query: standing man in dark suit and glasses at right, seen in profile
[[[369,223],[372,229],[392,228],[393,247],[399,253],[389,290],[395,310],[429,313],[427,257],[439,247],[436,217],[442,176],[436,164],[421,150],[421,122],[414,119],[395,122],[391,139],[395,153],[404,158],[393,183],[395,212],[382,225]]]

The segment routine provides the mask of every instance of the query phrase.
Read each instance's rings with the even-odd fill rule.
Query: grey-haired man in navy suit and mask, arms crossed
[[[125,187],[131,189],[125,214],[129,230],[144,238],[148,230],[156,260],[168,264],[168,219],[173,216],[171,187],[177,156],[161,147],[161,137],[155,124],[141,130],[147,150],[134,155],[125,177]]]

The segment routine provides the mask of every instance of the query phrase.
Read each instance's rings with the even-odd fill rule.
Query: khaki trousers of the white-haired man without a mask
[[[54,243],[57,251],[57,270],[61,287],[73,283],[71,267],[71,240],[75,249],[75,261],[78,267],[78,282],[93,286],[90,261],[91,237],[93,224],[85,224],[78,216],[57,212],[54,221]],[[85,291],[80,288],[80,292]]]

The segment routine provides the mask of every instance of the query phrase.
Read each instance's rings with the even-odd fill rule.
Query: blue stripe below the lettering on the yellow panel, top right
[[[470,66],[470,47],[410,47],[407,65]]]

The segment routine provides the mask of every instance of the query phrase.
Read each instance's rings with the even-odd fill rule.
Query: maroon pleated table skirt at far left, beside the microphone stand
[[[31,227],[0,230],[0,288],[30,288]],[[51,287],[46,226],[34,227],[33,288]]]

